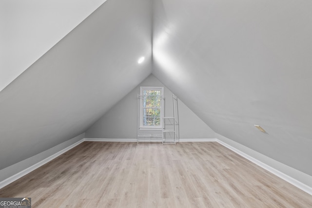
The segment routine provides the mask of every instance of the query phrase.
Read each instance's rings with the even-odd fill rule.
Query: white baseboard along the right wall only
[[[236,148],[232,147],[231,145],[228,145],[227,143],[219,140],[219,139],[216,139],[216,142],[218,142],[219,144],[223,145],[224,147],[236,152],[237,154],[241,155],[242,157],[246,158],[247,160],[253,162],[254,164],[260,166],[261,168],[265,169],[265,170],[268,170],[269,172],[273,173],[274,175],[276,175],[277,177],[287,181],[288,183],[292,184],[293,186],[297,187],[298,189],[301,189],[307,193],[309,193],[310,195],[312,195],[312,187],[309,187],[307,186],[306,184],[292,178],[291,176],[279,171],[279,170],[276,170],[274,169],[273,167],[255,159],[254,157],[240,151],[240,150],[237,150]],[[273,160],[273,159],[272,159]]]

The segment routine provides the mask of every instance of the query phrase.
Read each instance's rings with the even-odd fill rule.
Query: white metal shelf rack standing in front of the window
[[[146,98],[154,98],[160,101],[162,106],[160,116],[161,122],[159,127],[151,127],[143,125],[142,113],[143,104]],[[178,115],[178,98],[172,95],[172,111],[166,116],[165,97],[156,95],[137,95],[137,144],[139,142],[161,142],[162,144],[176,144],[179,142],[179,115]],[[170,109],[171,110],[171,109]],[[141,112],[142,111],[142,112]],[[169,114],[167,112],[167,114]]]

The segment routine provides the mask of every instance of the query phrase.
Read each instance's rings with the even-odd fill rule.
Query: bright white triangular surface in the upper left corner
[[[1,0],[0,91],[106,0]]]

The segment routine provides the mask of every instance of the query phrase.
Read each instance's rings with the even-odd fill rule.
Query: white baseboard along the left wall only
[[[69,147],[67,147],[67,148],[65,148],[65,149],[63,149],[61,151],[58,151],[57,153],[55,153],[55,154],[53,154],[53,155],[51,155],[51,156],[41,160],[40,162],[36,163],[35,165],[32,165],[29,168],[27,168],[25,170],[22,170],[22,171],[16,173],[15,175],[12,175],[11,177],[1,181],[0,182],[0,189],[2,189],[3,187],[9,185],[12,182],[18,180],[19,178],[23,177],[24,175],[30,173],[31,171],[38,169],[39,167],[41,167],[44,164],[50,162],[51,160],[57,158],[59,155],[65,153],[66,151],[69,151],[70,149],[76,147],[77,145],[81,144],[82,142],[84,142],[84,139],[81,139],[80,141],[70,145]]]

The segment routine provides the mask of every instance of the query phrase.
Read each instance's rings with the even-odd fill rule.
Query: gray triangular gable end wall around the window
[[[137,95],[140,94],[140,86],[164,87],[166,116],[173,116],[172,92],[150,75],[92,125],[86,131],[86,138],[137,138]],[[180,100],[178,109],[180,138],[215,138],[215,132]]]

